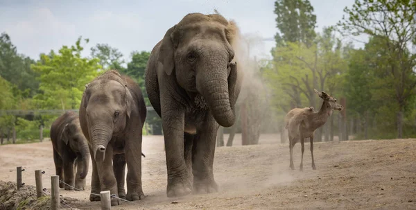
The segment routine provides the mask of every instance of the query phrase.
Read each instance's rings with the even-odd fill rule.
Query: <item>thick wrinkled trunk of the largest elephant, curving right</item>
[[[216,60],[209,60],[212,57]],[[226,58],[220,56],[220,58]],[[208,61],[202,64],[196,76],[196,87],[205,98],[214,119],[223,127],[234,125],[233,105],[229,101],[227,60],[218,62],[218,57],[208,55]]]

